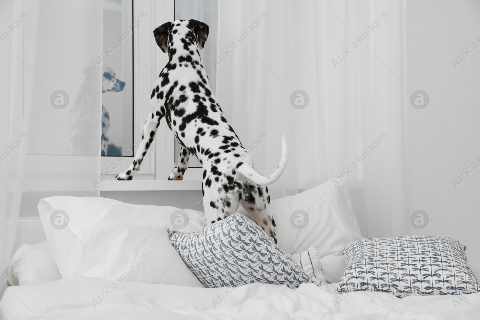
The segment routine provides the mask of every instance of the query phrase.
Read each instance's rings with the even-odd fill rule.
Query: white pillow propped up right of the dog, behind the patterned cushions
[[[329,283],[338,282],[345,270],[342,249],[363,239],[347,183],[336,188],[332,180],[270,203],[278,247],[300,253],[315,244]],[[252,218],[241,207],[238,212]]]

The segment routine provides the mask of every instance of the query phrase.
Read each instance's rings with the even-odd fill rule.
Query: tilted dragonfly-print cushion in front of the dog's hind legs
[[[312,279],[252,220],[234,214],[194,233],[168,230],[170,242],[206,287],[286,284]]]

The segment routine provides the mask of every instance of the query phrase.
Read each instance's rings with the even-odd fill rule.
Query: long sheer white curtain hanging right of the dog
[[[227,27],[218,31],[216,96],[262,174],[278,166],[287,136],[288,167],[272,198],[348,170],[364,186],[367,235],[408,233],[405,1],[220,0],[218,17]],[[291,104],[297,90],[306,108]]]

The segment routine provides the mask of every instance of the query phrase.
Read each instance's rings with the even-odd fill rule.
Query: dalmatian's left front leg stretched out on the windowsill
[[[154,97],[154,95],[152,95],[152,97]],[[130,165],[127,171],[115,177],[117,180],[132,180],[133,178],[132,171],[140,170],[140,165],[144,160],[144,156],[147,153],[148,148],[152,144],[153,139],[155,138],[156,130],[160,125],[160,120],[165,115],[164,107],[160,107],[160,104],[159,104],[160,100],[152,99],[150,101],[151,101],[151,106],[150,106],[151,116],[148,117],[148,119],[145,121],[142,141],[140,142],[140,146],[138,147],[135,158],[133,159],[133,163],[132,165]]]

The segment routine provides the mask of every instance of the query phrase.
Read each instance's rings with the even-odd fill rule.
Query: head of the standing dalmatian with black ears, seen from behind
[[[153,31],[155,41],[163,52],[173,55],[172,50],[182,48],[203,49],[208,37],[208,25],[197,20],[166,22]],[[193,47],[192,47],[193,46]]]

